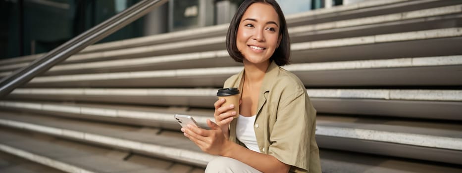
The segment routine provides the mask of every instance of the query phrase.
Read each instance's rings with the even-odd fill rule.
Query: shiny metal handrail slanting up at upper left
[[[3,78],[0,81],[0,97],[6,96],[16,87],[29,82],[37,75],[48,71],[51,67],[66,60],[71,55],[78,53],[85,47],[116,32],[167,1],[168,0],[142,0],[105,20],[103,23],[54,48],[28,66],[16,70],[9,76]]]

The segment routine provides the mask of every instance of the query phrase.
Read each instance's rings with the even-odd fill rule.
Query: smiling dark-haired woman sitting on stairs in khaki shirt
[[[240,105],[215,102],[210,130],[182,128],[203,151],[219,155],[207,173],[320,173],[315,141],[316,111],[300,79],[279,66],[290,56],[287,25],[275,0],[246,0],[226,36],[230,56],[244,70],[226,80],[238,87]],[[241,115],[226,112],[240,106]]]

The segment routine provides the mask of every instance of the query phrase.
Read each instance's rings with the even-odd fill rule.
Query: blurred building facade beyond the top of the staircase
[[[50,51],[140,0],[1,0],[0,58]],[[169,0],[99,43],[229,23],[243,0]],[[277,0],[286,15],[363,0]]]

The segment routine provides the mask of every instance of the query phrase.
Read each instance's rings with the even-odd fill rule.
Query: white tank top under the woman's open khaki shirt
[[[247,148],[259,153],[260,149],[258,148],[257,137],[255,136],[254,130],[256,117],[256,115],[252,117],[239,115],[236,123],[236,138],[244,143]]]

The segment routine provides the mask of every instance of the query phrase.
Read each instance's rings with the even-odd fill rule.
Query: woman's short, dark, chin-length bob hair
[[[228,33],[226,34],[226,49],[228,50],[229,55],[236,61],[242,62],[244,56],[239,51],[236,46],[236,38],[237,38],[237,30],[239,28],[239,24],[241,23],[242,16],[244,12],[246,12],[247,8],[250,5],[256,2],[266,3],[273,6],[274,10],[279,16],[279,35],[282,36],[282,40],[279,43],[279,47],[274,50],[273,55],[269,58],[273,60],[278,66],[284,66],[289,64],[290,59],[290,38],[289,32],[287,31],[287,23],[282,13],[281,7],[275,0],[245,0],[242,2],[241,6],[237,9],[236,14],[234,14],[233,19],[228,27]]]

